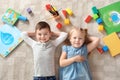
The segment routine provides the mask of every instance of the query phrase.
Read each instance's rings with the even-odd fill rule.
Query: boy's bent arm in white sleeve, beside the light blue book
[[[33,33],[32,32],[22,32],[21,33],[21,37],[23,38],[23,40],[30,46],[33,46],[33,43],[35,42],[31,37],[33,37]]]

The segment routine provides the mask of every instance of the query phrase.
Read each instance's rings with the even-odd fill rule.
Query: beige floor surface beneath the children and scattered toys
[[[57,22],[54,19],[49,19],[51,16],[46,11],[45,5],[50,3],[55,6],[59,9],[61,16],[61,9],[70,8],[74,13],[74,16],[69,17],[72,24],[69,26],[63,25],[62,31],[69,31],[73,25],[87,27],[91,35],[101,38],[100,45],[104,45],[102,38],[105,34],[98,32],[97,23],[93,21],[90,24],[86,24],[84,19],[88,14],[92,14],[91,7],[97,6],[97,8],[101,8],[116,1],[119,0],[0,0],[0,18],[8,8],[13,8],[29,19],[29,23],[18,21],[16,26],[21,31],[34,30],[35,24],[41,20],[47,21],[51,25],[52,30],[59,31],[55,27]],[[26,9],[28,7],[32,9],[34,16],[30,16],[27,13]],[[2,25],[3,22],[0,20],[0,26]],[[57,54],[55,55],[56,75],[58,75],[58,59],[61,52],[59,48],[60,46],[57,48]],[[120,55],[113,58],[109,53],[101,55],[97,50],[94,50],[89,56],[89,62],[93,80],[120,80]],[[32,50],[24,42],[7,58],[0,57],[0,80],[32,80],[32,75]]]

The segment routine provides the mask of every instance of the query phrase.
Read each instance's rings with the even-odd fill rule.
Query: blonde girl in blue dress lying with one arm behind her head
[[[92,80],[87,56],[98,46],[99,38],[88,36],[86,29],[74,28],[68,39],[60,57],[62,80]]]

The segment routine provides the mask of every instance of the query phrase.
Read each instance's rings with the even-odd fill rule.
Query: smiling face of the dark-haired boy
[[[39,42],[45,43],[47,41],[49,41],[51,37],[51,32],[49,31],[49,29],[44,28],[44,29],[37,29],[36,30],[36,39]]]

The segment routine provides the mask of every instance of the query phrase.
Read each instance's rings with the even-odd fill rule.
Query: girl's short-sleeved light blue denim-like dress
[[[61,80],[92,80],[88,65],[86,45],[83,45],[80,48],[64,45],[62,51],[66,52],[67,58],[81,55],[84,56],[86,60],[84,62],[74,62],[69,66],[63,67],[60,71],[62,77]]]

